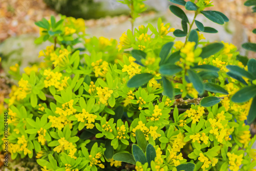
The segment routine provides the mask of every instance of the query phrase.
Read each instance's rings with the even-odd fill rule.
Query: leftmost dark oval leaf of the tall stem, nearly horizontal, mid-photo
[[[140,87],[143,84],[147,83],[149,80],[151,80],[153,77],[154,75],[150,73],[135,75],[127,82],[127,87],[129,88]]]

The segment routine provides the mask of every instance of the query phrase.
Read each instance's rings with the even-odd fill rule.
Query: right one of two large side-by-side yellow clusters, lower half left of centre
[[[82,113],[75,114],[75,117],[77,118],[78,122],[85,122],[87,120],[87,123],[85,123],[84,125],[87,126],[87,129],[93,129],[94,127],[93,123],[95,122],[97,115],[90,114],[85,109],[82,109]]]

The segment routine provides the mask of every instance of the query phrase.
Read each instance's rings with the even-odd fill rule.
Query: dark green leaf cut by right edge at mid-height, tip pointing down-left
[[[233,102],[242,103],[248,101],[250,98],[256,96],[256,86],[248,86],[239,90],[236,94],[234,94],[231,98]]]

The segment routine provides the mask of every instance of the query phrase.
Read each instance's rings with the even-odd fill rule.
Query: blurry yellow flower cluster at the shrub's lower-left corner
[[[27,148],[27,146],[28,141],[25,136],[23,135],[22,137],[18,137],[17,144],[10,144],[10,153],[14,154],[23,151],[24,155],[31,154],[32,152]]]

